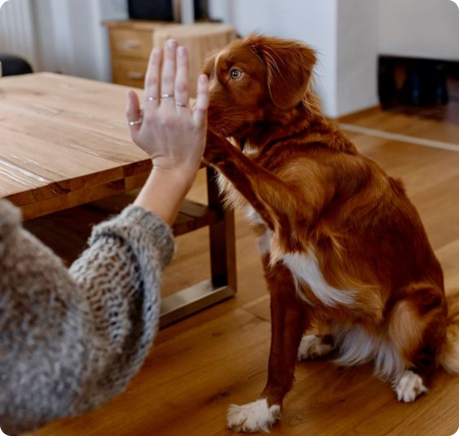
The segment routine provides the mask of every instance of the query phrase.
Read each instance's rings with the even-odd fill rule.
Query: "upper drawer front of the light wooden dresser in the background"
[[[153,47],[152,33],[130,29],[111,29],[110,44],[112,55],[148,58]]]

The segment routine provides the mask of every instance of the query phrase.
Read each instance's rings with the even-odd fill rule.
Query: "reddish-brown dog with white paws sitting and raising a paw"
[[[314,62],[305,45],[251,35],[204,69],[205,158],[228,202],[247,212],[271,294],[268,382],[257,401],[229,408],[237,431],[269,430],[280,418],[297,358],[334,350],[340,365],[374,361],[404,402],[427,391],[439,364],[459,372],[459,319],[448,326],[442,269],[420,217],[402,182],[325,120]],[[311,327],[330,334],[303,337]]]

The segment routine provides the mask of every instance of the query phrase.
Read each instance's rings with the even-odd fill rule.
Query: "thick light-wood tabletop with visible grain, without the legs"
[[[3,78],[0,197],[28,219],[142,186],[151,160],[129,138],[127,92],[50,73]]]

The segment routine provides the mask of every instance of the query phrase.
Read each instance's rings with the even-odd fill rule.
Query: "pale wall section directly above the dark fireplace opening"
[[[379,0],[381,54],[459,60],[459,8],[450,0]]]

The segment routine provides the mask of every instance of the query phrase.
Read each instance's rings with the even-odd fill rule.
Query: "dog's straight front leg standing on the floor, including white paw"
[[[257,401],[231,405],[227,416],[229,428],[250,433],[269,431],[280,419],[282,401],[291,389],[298,347],[307,327],[306,307],[296,295],[290,272],[279,264],[268,267],[267,259],[264,263],[271,294],[268,382]]]

